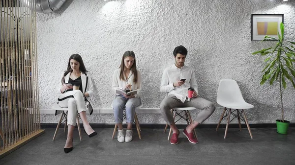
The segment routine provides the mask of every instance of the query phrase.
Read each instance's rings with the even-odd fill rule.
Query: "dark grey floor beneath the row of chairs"
[[[295,165],[295,128],[288,135],[276,128],[253,128],[253,139],[247,129],[197,129],[198,144],[189,143],[180,134],[179,143],[171,145],[163,129],[143,129],[139,140],[136,129],[133,141],[112,140],[113,129],[95,129],[98,135],[83,141],[74,133],[74,149],[63,152],[66,133],[60,129],[52,141],[54,128],[30,141],[6,157],[0,165]],[[182,131],[182,130],[181,130]]]

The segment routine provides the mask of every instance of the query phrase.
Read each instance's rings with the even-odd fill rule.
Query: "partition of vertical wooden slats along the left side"
[[[36,0],[1,1],[0,158],[44,133],[40,129],[35,8]]]

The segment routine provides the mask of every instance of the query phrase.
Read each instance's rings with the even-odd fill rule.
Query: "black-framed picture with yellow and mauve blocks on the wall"
[[[284,14],[252,14],[251,40],[262,41],[266,35],[278,39],[281,23],[284,23]]]

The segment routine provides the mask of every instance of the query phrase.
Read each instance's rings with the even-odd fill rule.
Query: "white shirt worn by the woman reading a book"
[[[126,76],[124,74],[125,79],[124,80],[120,80],[120,69],[117,69],[114,71],[113,74],[113,83],[112,83],[112,89],[114,94],[116,94],[116,89],[119,88],[121,90],[125,90],[125,87],[127,84],[131,84],[131,91],[134,90],[138,90],[137,94],[134,94],[135,97],[140,97],[140,93],[141,93],[141,86],[142,86],[142,81],[141,81],[141,73],[139,70],[137,70],[137,83],[135,84],[133,82],[134,79],[134,74],[132,71],[130,71],[128,78],[126,81]],[[118,95],[118,94],[116,94]]]

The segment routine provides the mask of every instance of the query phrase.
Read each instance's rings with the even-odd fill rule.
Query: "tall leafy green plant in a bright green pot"
[[[260,82],[263,85],[267,80],[272,85],[274,81],[279,81],[280,84],[280,99],[281,99],[281,119],[276,120],[277,132],[280,134],[287,134],[290,121],[284,119],[284,106],[282,96],[282,86],[284,89],[287,87],[286,80],[291,81],[295,88],[294,78],[295,69],[295,42],[284,41],[284,24],[280,24],[281,35],[278,31],[278,39],[274,37],[265,36],[263,41],[277,40],[273,47],[264,48],[255,51],[252,54],[261,54],[267,56],[265,59],[266,66],[262,70],[264,72]]]

